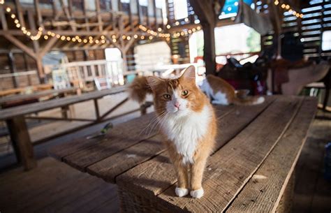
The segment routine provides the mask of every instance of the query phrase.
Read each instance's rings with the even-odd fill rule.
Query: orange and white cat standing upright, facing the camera
[[[216,137],[216,117],[205,94],[196,86],[194,66],[177,79],[147,77],[154,108],[177,172],[175,193],[203,196],[203,172]]]

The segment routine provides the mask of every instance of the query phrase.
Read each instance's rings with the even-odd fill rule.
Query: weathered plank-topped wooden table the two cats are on
[[[154,113],[119,124],[104,138],[80,138],[49,153],[117,184],[123,212],[274,212],[293,186],[316,105],[316,98],[304,96],[267,96],[253,106],[214,105],[219,133],[200,199],[175,196],[175,170],[151,124]]]

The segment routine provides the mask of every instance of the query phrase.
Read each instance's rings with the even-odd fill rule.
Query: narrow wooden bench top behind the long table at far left
[[[38,102],[39,98],[54,97],[54,96],[66,96],[66,94],[77,93],[75,88],[66,89],[48,89],[44,91],[38,91],[32,94],[22,94],[15,96],[0,97],[0,108],[8,108],[8,105],[23,105],[29,101]]]

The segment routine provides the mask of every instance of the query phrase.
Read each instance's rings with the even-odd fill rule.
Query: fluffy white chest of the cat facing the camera
[[[194,162],[196,145],[207,132],[210,115],[210,109],[205,106],[201,112],[191,112],[185,117],[171,115],[162,126],[168,139],[174,143],[177,153],[182,155],[184,164]]]

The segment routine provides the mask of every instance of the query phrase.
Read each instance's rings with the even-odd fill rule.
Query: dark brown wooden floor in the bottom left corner
[[[1,212],[118,212],[116,189],[47,157],[34,170],[1,172]]]

